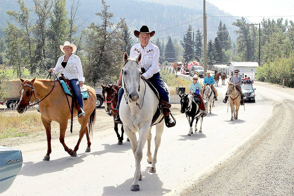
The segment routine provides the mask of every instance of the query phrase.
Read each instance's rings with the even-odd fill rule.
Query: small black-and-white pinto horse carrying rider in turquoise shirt
[[[191,94],[179,94],[178,95],[180,96],[181,100],[180,100],[180,103],[181,103],[181,113],[185,113],[186,114],[186,117],[189,121],[189,125],[190,125],[190,130],[189,130],[189,133],[188,133],[188,136],[191,136],[191,134],[193,134],[193,122],[194,122],[194,119],[196,119],[196,123],[195,123],[195,133],[197,131],[197,123],[198,123],[198,120],[200,119],[200,129],[199,129],[199,133],[202,133],[202,121],[203,121],[203,115],[202,113],[200,112],[200,108],[199,108],[199,105],[196,104],[194,101],[192,101],[193,97]],[[205,105],[206,107],[206,105]]]

